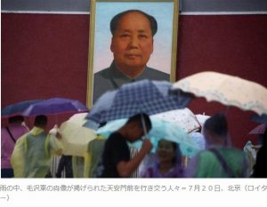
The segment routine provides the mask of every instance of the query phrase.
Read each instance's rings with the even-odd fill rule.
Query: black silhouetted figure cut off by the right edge
[[[255,165],[253,167],[252,178],[267,178],[267,128],[263,133],[263,146],[256,155]]]

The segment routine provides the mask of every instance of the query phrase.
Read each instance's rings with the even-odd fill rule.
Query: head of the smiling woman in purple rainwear
[[[166,139],[158,141],[157,148],[158,162],[172,162],[173,164],[182,163],[182,152],[178,143]]]

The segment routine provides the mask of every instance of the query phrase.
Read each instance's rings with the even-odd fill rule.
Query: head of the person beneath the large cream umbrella
[[[207,145],[230,145],[228,124],[225,115],[215,114],[204,123],[203,134]]]

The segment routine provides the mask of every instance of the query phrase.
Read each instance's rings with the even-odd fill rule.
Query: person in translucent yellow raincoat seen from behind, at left
[[[52,155],[61,155],[61,143],[52,133],[46,132],[46,126],[46,115],[36,115],[33,129],[16,142],[11,157],[15,178],[44,178]],[[60,135],[57,133],[56,137]]]

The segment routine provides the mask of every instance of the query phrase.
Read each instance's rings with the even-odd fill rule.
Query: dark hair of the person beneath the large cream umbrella
[[[204,128],[220,137],[228,134],[227,120],[223,114],[215,114],[208,118],[204,123]]]

